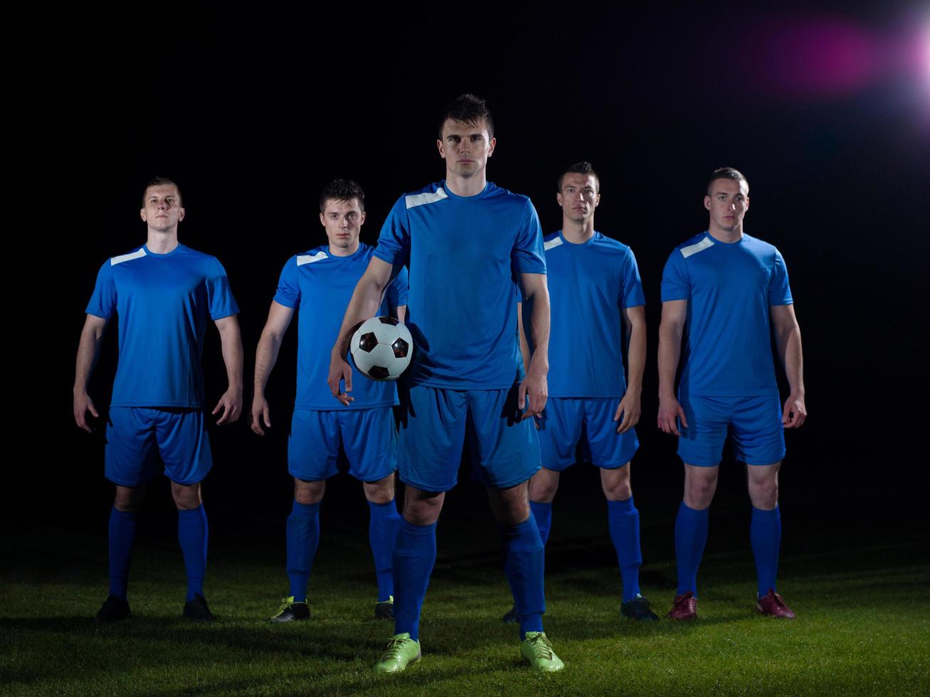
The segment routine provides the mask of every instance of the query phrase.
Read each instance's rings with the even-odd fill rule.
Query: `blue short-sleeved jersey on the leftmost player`
[[[167,254],[142,245],[108,259],[86,312],[119,317],[112,406],[204,406],[200,356],[207,318],[238,313],[216,256],[179,244]]]

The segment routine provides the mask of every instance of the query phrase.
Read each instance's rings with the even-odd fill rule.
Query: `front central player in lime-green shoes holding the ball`
[[[547,393],[546,264],[533,204],[487,181],[485,166],[496,144],[484,100],[462,95],[449,105],[436,143],[445,179],[394,205],[332,351],[329,388],[350,404],[352,370],[344,356],[352,327],[375,313],[392,275],[406,265],[416,352],[406,375],[398,453],[406,495],[393,560],[395,634],[375,664],[379,672],[419,661],[419,614],[436,559],[436,521],[445,492],[456,484],[466,438],[500,523],[521,653],[538,670],[563,667],[543,633],[543,547],[526,494],[526,481],[539,467],[529,417],[542,410]],[[533,353],[525,376],[514,281],[531,316]]]

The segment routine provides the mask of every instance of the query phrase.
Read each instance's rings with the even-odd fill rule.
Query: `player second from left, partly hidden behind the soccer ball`
[[[299,309],[297,401],[287,441],[287,468],[294,477],[294,504],[286,529],[290,593],[272,622],[310,617],[307,585],[320,539],[320,504],[326,480],[339,471],[340,448],[368,500],[368,536],[378,577],[375,616],[392,619],[391,559],[400,523],[394,504],[397,428],[392,407],[398,403],[397,388],[392,382],[363,378],[355,386],[350,409],[339,407],[339,411],[326,388],[328,349],[374,251],[358,239],[365,223],[365,192],[349,179],[329,182],[320,196],[320,222],[328,243],[287,260],[255,356],[251,423],[252,430],[263,436],[264,428],[272,425],[265,386],[294,310]],[[390,305],[403,321],[405,304],[406,271],[402,270],[388,286],[376,314],[387,315]]]

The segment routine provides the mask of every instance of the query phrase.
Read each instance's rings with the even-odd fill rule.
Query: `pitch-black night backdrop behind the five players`
[[[12,74],[19,99],[7,151],[30,206],[18,211],[20,263],[45,270],[29,274],[43,287],[26,294],[38,303],[20,305],[27,335],[14,333],[25,362],[21,372],[12,362],[20,417],[8,442],[33,455],[13,458],[12,481],[21,481],[7,490],[10,503],[104,529],[112,490],[100,430],[87,436],[73,424],[73,355],[100,264],[145,240],[138,211],[149,178],[179,182],[180,240],[219,256],[229,274],[247,410],[281,265],[325,241],[322,186],[336,177],[362,185],[362,237],[375,243],[399,195],[443,177],[439,112],[472,91],[495,116],[490,180],[530,195],[548,232],[561,224],[560,167],[590,160],[602,182],[596,227],[636,253],[649,336],[633,463],[641,509],[671,516],[681,499],[675,442],[655,426],[661,269],[677,243],[706,228],[706,178],[731,165],[751,182],[746,230],[786,258],[804,336],[809,416],[788,434],[782,507],[822,501],[828,512],[852,506],[894,519],[919,500],[925,467],[930,76],[887,70],[835,89],[804,86],[798,76],[816,73],[822,53],[783,40],[792,27],[814,27],[808,38],[840,27],[894,45],[914,18],[887,5],[632,13],[480,4],[259,16],[157,7],[54,27],[35,20]],[[794,78],[779,72],[795,63]],[[16,283],[21,296],[27,282]],[[90,389],[102,408],[114,329]],[[289,510],[296,339],[291,329],[268,388],[271,434],[259,440],[245,418],[211,431],[204,491],[215,530]],[[225,388],[212,328],[204,363],[212,407]],[[724,465],[718,501],[748,506],[737,471]],[[584,492],[572,495],[600,500],[596,476],[572,477]],[[33,505],[36,482],[43,506]],[[460,489],[452,506],[479,500],[472,486]],[[170,509],[166,487],[152,496]],[[334,481],[331,498],[364,510],[352,480]],[[445,514],[451,524],[455,510]]]

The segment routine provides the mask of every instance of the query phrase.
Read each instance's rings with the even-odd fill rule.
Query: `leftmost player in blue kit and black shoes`
[[[216,323],[229,387],[212,414],[232,424],[242,411],[239,312],[215,256],[178,242],[184,208],[178,186],[154,178],[142,196],[146,243],[104,262],[77,349],[74,420],[86,431],[99,417],[87,394],[107,323],[119,317],[119,363],[107,419],[105,473],[116,486],[110,514],[110,596],[98,622],[129,616],[126,579],[146,483],[160,461],[178,506],[178,539],[187,571],[184,617],[210,621],[204,598],[207,524],[200,482],[213,465],[204,414],[201,353],[207,320]]]

